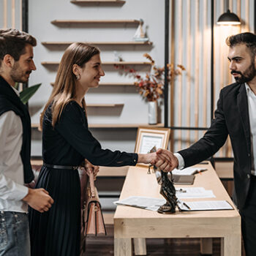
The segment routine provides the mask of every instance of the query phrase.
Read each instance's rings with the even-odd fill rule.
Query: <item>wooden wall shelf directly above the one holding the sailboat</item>
[[[64,24],[139,24],[140,20],[52,20],[54,25]]]

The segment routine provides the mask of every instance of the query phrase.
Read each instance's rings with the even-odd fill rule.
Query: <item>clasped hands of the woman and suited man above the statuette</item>
[[[178,167],[177,157],[172,152],[163,148],[159,148],[154,153],[138,154],[138,163],[155,165],[166,173]]]

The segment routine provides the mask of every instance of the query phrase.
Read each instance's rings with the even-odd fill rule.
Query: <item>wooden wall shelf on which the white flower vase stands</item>
[[[31,124],[32,128],[38,128],[39,124]],[[138,128],[138,127],[164,127],[164,124],[89,124],[89,128]]]

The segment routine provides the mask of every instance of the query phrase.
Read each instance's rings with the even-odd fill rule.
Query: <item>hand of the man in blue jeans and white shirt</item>
[[[29,189],[29,193],[23,198],[23,201],[41,213],[48,211],[53,204],[53,198],[45,189]]]

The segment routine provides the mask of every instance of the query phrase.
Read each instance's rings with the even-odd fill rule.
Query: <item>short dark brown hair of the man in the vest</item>
[[[18,29],[0,29],[0,64],[7,54],[18,61],[25,53],[26,44],[36,46],[37,39]]]

